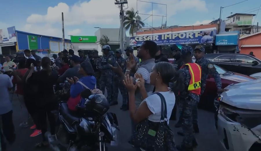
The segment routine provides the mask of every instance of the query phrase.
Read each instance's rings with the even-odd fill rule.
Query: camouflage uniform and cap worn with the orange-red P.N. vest
[[[191,52],[191,57],[193,56],[193,49],[191,46],[183,46],[181,49],[181,55],[187,54],[188,52]],[[189,73],[189,67],[184,65],[182,68],[178,71],[182,73],[184,77],[184,84],[185,89],[188,88],[189,82],[191,80],[191,75]],[[182,130],[184,133],[184,139],[182,141],[182,145],[185,148],[191,148],[192,142],[195,139],[193,135],[193,124],[192,124],[192,110],[197,107],[197,104],[199,102],[199,95],[195,93],[190,93],[188,90],[185,90],[184,92],[180,93],[180,100],[182,101]],[[180,147],[180,146],[179,146]],[[177,147],[177,148],[179,148]]]

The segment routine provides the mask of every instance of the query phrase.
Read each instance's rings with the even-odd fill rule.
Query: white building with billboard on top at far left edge
[[[15,27],[0,29],[0,54],[11,55],[16,53],[17,33]]]

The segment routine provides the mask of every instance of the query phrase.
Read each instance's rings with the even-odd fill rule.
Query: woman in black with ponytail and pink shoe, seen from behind
[[[51,111],[55,110],[56,97],[53,91],[53,85],[58,79],[58,74],[51,68],[51,59],[43,57],[41,60],[42,70],[34,72],[34,65],[31,66],[31,71],[27,77],[26,83],[34,87],[34,107],[36,110],[36,130],[30,137],[35,137],[42,134],[43,141],[36,144],[36,147],[48,146],[44,134],[47,132],[47,117],[50,123],[51,134],[55,134],[55,117]]]

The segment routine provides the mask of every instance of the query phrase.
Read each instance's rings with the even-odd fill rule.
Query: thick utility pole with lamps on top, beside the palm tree
[[[128,1],[127,0],[115,0],[114,4],[119,5],[120,8],[120,22],[121,22],[121,26],[120,26],[120,49],[121,51],[124,50],[124,10],[123,10],[123,4],[127,4]],[[124,53],[123,53],[124,55]]]

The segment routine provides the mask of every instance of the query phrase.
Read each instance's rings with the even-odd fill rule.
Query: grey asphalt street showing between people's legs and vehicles
[[[10,94],[10,99],[12,94]],[[109,146],[109,151],[134,151],[134,148],[128,143],[128,139],[131,135],[131,122],[128,111],[121,111],[119,108],[121,107],[122,99],[119,94],[118,97],[119,104],[116,106],[112,106],[109,109],[109,112],[116,113],[118,122],[119,122],[119,145]],[[14,94],[12,99],[13,104],[13,121],[16,131],[16,141],[10,146],[8,145],[7,151],[49,151],[51,149],[36,149],[34,145],[36,143],[41,142],[41,135],[36,137],[30,137],[33,130],[27,128],[20,128],[19,124],[23,122],[24,117],[26,117],[26,113],[23,109],[21,109],[20,102],[17,98],[17,95]],[[176,144],[179,144],[182,141],[182,136],[176,134],[180,128],[174,128],[176,121],[170,121],[169,126],[172,128],[174,132],[174,137]],[[220,145],[220,142],[217,139],[216,128],[214,124],[214,114],[204,111],[198,110],[198,125],[200,128],[200,133],[196,134],[195,137],[198,142],[198,147],[194,149],[194,151],[223,151],[224,149]]]

